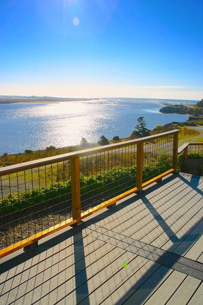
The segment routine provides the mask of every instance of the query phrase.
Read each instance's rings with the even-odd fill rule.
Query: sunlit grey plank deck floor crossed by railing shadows
[[[203,304],[203,178],[167,176],[1,259],[1,304]]]

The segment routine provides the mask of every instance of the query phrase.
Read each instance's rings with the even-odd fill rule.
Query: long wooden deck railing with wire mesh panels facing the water
[[[0,168],[0,257],[176,172],[178,132]]]

